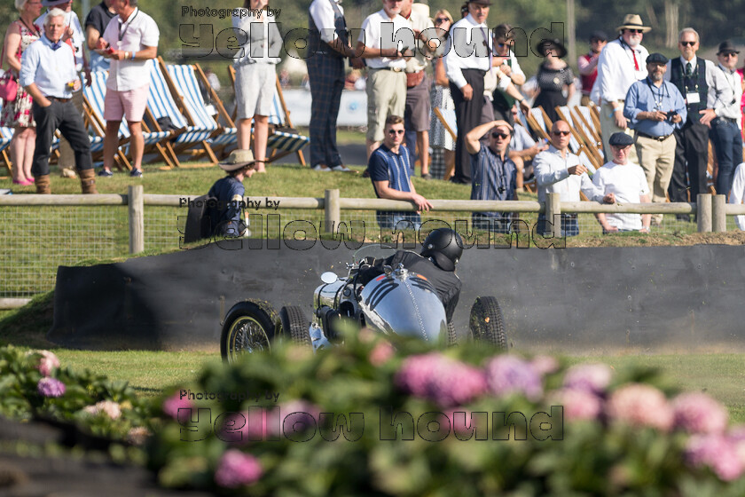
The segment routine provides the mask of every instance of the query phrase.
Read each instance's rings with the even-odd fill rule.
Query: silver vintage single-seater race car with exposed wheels
[[[292,340],[314,351],[340,343],[341,319],[353,319],[385,335],[418,336],[427,342],[457,343],[455,327],[448,322],[443,302],[432,284],[403,264],[383,266],[383,272],[365,285],[361,275],[376,261],[392,256],[395,248],[371,245],[357,250],[348,274],[321,275],[322,284],[313,295],[313,316],[302,307],[282,307],[278,315],[262,301],[242,301],[231,307],[223,320],[220,350],[223,359],[239,354],[270,351],[276,340]],[[480,296],[471,307],[469,334],[474,340],[506,348],[502,312],[493,296]]]

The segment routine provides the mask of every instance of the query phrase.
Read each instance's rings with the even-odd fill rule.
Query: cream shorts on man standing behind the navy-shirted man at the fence
[[[367,76],[367,139],[385,138],[388,115],[404,117],[406,75],[388,69],[374,69]]]

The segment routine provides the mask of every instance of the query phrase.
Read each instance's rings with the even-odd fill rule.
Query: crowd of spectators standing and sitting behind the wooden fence
[[[524,182],[535,177],[540,201],[547,192],[561,193],[565,201],[578,200],[580,191],[590,200],[608,201],[617,188],[627,202],[695,201],[698,193],[708,191],[710,141],[717,158],[716,191],[728,194],[733,189],[742,162],[745,83],[742,69],[737,68],[739,51],[730,41],[719,45],[717,62],[701,59],[699,34],[684,28],[678,35],[679,58],[667,59],[659,52],[650,55],[642,42],[651,28],[638,14],[628,14],[615,28],[616,38],[603,31],[592,33],[590,50],[576,60],[578,80],[565,60],[562,41],[539,40],[530,49],[544,60],[529,90],[514,53],[514,28],[501,24],[492,29],[486,24],[490,0],[467,0],[460,7],[459,20],[446,10],[430,17],[428,7],[413,0],[380,1],[380,10],[364,20],[356,40],[348,38],[339,0],[310,4],[312,55],[306,60],[304,84],[311,93],[313,170],[350,172],[336,144],[341,91],[347,89],[367,94],[369,163],[364,176],[372,178],[379,197],[416,199],[419,209],[428,209],[428,203],[415,193],[409,179],[416,174],[415,164],[425,179],[471,185],[474,200],[516,199],[524,191]],[[55,130],[61,134],[60,168],[69,176],[75,176],[74,170],[86,171],[83,190],[95,190],[88,172],[90,146],[78,136],[79,130],[85,131],[82,85],[90,85],[91,70],[109,71],[104,165],[98,176],[114,174],[123,118],[131,134],[130,175],[142,176],[142,121],[149,86],[146,61],[157,57],[158,26],[139,10],[137,0],[102,0],[83,24],[73,4],[73,0],[15,0],[20,15],[4,40],[3,62],[8,67],[4,78],[20,83],[17,96],[4,102],[0,115],[0,124],[14,130],[12,180],[19,185],[35,183],[39,193],[49,193],[48,150]],[[42,13],[43,7],[47,12]],[[232,18],[236,34],[243,34],[237,36],[242,47],[234,61],[237,145],[239,150],[253,151],[255,171],[263,173],[275,84],[286,86],[289,73],[277,71],[281,59],[276,55],[283,42],[278,24],[268,15],[267,0],[245,0],[242,8],[249,14]],[[51,12],[55,19],[50,23]],[[56,33],[59,22],[62,29],[55,40],[56,35],[47,30],[51,27]],[[263,28],[256,28],[258,24]],[[384,41],[391,27],[393,33],[408,34],[401,43]],[[67,49],[59,51],[60,43]],[[45,57],[47,46],[53,57]],[[28,50],[33,57],[24,57]],[[70,60],[62,60],[67,51]],[[48,74],[67,75],[68,69],[74,75],[70,80]],[[210,85],[217,86],[216,76],[210,77]],[[588,169],[569,150],[571,123],[555,110],[574,101],[576,83],[580,83],[581,104],[595,106],[600,116],[607,163],[592,180],[588,173],[592,175],[594,168]],[[550,121],[547,140],[537,139],[519,118],[529,110],[526,94]],[[433,107],[454,115],[454,122],[443,124]],[[398,137],[401,127],[404,136]],[[430,160],[430,151],[435,152],[435,160]],[[646,185],[630,193],[639,170]],[[620,175],[629,177],[623,180]],[[733,192],[733,201],[738,195],[742,193]],[[399,214],[379,213],[379,217],[388,225],[382,217],[395,219]],[[508,230],[513,217],[496,214],[474,214],[474,222],[495,231]],[[419,222],[410,215],[402,218]],[[545,224],[545,219],[539,221]],[[610,216],[600,216],[599,221],[605,232],[627,226],[648,230],[659,225],[662,216],[652,217],[650,224],[640,217],[639,223]],[[576,234],[576,218],[565,217],[562,229]]]

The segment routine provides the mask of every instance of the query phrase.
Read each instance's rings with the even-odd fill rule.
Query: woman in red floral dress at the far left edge
[[[20,57],[26,47],[42,35],[34,25],[34,20],[42,12],[41,0],[15,0],[16,9],[20,12],[5,32],[3,44],[3,67],[10,71],[16,80],[20,73]],[[10,67],[10,69],[7,69]],[[0,126],[13,128],[11,141],[11,161],[13,163],[13,183],[16,185],[33,185],[31,162],[34,158],[36,142],[36,123],[31,114],[31,95],[19,86],[15,100],[4,102],[0,112]]]

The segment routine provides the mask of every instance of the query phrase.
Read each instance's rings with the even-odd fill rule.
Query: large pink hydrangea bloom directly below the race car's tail
[[[439,352],[405,359],[396,384],[443,407],[465,404],[486,389],[482,371]]]

